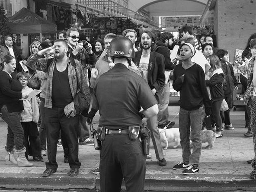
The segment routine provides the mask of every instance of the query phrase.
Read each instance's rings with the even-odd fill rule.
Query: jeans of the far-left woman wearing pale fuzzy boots
[[[7,123],[7,151],[11,152],[12,148],[16,147],[17,150],[23,149],[24,131],[20,122],[20,112],[9,113],[6,105],[1,109],[2,118]]]

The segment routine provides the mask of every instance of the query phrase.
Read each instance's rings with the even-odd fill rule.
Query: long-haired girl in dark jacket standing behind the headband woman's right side
[[[221,117],[220,117],[220,107],[224,99],[224,90],[223,90],[223,77],[224,73],[221,69],[220,59],[216,55],[209,55],[207,61],[211,65],[207,76],[209,80],[206,80],[206,86],[210,90],[210,100],[212,101],[212,116],[216,123],[216,138],[222,137],[221,133]]]

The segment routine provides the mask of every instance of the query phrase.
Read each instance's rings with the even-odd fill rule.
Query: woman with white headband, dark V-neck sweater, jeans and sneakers
[[[204,70],[191,61],[195,48],[190,43],[180,45],[182,64],[174,67],[173,88],[180,91],[180,145],[183,161],[173,166],[175,170],[185,169],[183,174],[192,175],[199,172],[201,155],[201,127],[205,114],[211,114],[211,101],[205,83]],[[191,133],[190,133],[191,128]],[[191,154],[190,138],[193,143]]]

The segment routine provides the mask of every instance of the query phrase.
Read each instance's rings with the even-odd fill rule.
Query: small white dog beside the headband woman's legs
[[[173,148],[176,148],[180,145],[180,131],[179,128],[170,128],[170,129],[159,129],[161,142],[165,143],[165,148],[168,148],[168,143],[175,142],[176,145]]]

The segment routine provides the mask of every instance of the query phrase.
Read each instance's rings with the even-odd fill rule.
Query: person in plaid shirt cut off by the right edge
[[[251,108],[251,133],[253,135],[253,141],[254,141],[254,159],[251,162],[251,166],[254,169],[250,173],[251,179],[256,179],[256,100],[254,99],[254,91],[256,89],[256,39],[251,40],[250,43],[250,50],[252,59],[250,60],[248,64],[248,86],[247,90],[244,93],[244,104],[250,106]]]

